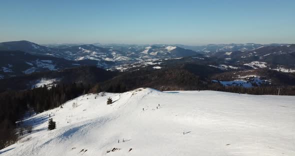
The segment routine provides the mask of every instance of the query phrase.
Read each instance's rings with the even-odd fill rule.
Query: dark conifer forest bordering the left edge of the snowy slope
[[[71,83],[0,93],[0,149],[16,141],[15,122],[28,107],[32,107],[36,113],[43,112],[87,93],[89,88],[90,85],[83,83]]]

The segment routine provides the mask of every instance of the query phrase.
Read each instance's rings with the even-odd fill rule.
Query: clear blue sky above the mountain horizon
[[[295,0],[0,0],[0,41],[295,43]]]

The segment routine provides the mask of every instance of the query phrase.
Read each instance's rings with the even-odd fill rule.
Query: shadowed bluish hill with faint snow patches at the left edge
[[[0,51],[0,78],[54,71],[79,65],[96,65],[96,61],[67,60],[46,55],[32,55],[18,50]]]

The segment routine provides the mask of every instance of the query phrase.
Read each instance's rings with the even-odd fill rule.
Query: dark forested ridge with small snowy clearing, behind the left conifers
[[[96,66],[76,65],[61,70],[45,70],[20,76],[0,79],[0,92],[6,90],[25,90],[43,84],[82,83],[85,86],[113,78],[118,72],[104,70]]]

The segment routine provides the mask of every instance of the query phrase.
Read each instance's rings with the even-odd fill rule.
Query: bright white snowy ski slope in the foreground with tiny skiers
[[[82,95],[25,118],[33,132],[0,155],[295,155],[294,101],[151,88]]]

